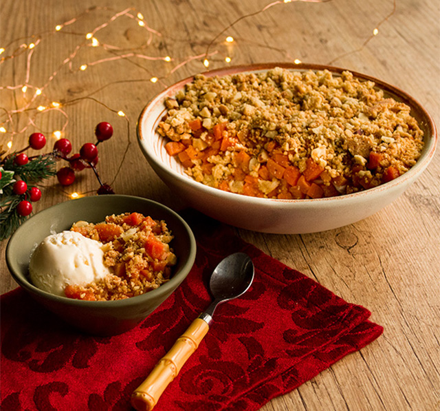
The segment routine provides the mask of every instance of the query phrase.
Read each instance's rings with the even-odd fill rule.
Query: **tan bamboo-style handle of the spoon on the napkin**
[[[153,409],[165,388],[177,377],[186,360],[197,350],[200,341],[208,333],[208,328],[208,324],[203,319],[196,318],[192,322],[131,395],[131,405],[135,410]]]

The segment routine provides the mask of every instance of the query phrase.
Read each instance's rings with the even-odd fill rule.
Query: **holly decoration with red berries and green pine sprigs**
[[[23,151],[29,148],[41,150],[46,145],[46,138],[41,133],[29,136],[28,147],[8,156],[0,147],[0,240],[8,238],[19,225],[32,213],[32,203],[41,199],[42,193],[36,184],[56,175],[63,186],[72,185],[76,173],[92,169],[100,188],[99,194],[114,194],[110,185],[100,179],[98,164],[98,145],[113,135],[113,127],[102,122],[96,126],[96,143],[85,143],[79,153],[72,156],[72,143],[67,138],[56,141],[51,152],[28,157]],[[63,160],[67,165],[56,171],[56,162]]]

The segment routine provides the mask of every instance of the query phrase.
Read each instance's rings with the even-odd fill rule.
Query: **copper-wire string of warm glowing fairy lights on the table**
[[[206,49],[206,52],[204,54],[195,56],[188,56],[184,59],[181,59],[181,61],[178,61],[174,67],[170,68],[170,70],[167,70],[167,76],[170,76],[171,74],[173,74],[176,70],[179,70],[181,67],[183,67],[184,65],[190,63],[191,61],[197,61],[198,63],[203,63],[203,66],[208,68],[210,66],[210,61],[209,59],[212,59],[212,56],[214,56],[215,54],[222,54],[222,52],[220,50],[214,50],[214,51],[210,51],[210,48],[214,45],[217,44],[219,47],[220,45],[222,47],[225,47],[225,43],[227,45],[228,48],[228,54],[232,54],[231,50],[234,47],[232,45],[232,43],[236,43],[236,40],[234,39],[234,37],[232,36],[225,36],[226,32],[231,32],[231,28],[234,27],[234,25],[236,25],[236,23],[239,23],[239,21],[249,18],[249,17],[254,17],[259,13],[265,12],[266,10],[269,10],[270,8],[272,8],[273,6],[276,6],[278,4],[281,3],[292,3],[292,1],[303,1],[306,3],[325,3],[327,1],[333,1],[333,0],[278,0],[278,1],[272,1],[272,3],[268,3],[266,6],[264,6],[263,8],[261,8],[261,10],[257,10],[256,12],[252,12],[249,14],[245,14],[242,15],[241,17],[239,17],[238,19],[236,19],[235,21],[233,21],[230,25],[228,25],[227,27],[225,27],[223,30],[221,30],[221,32],[219,32],[219,34],[217,34],[217,36],[215,36],[212,41],[208,44],[208,48]],[[384,23],[385,21],[387,21],[395,12],[396,9],[396,0],[390,0],[393,1],[394,4],[394,8],[393,11],[388,14],[388,16],[386,16],[384,19],[382,19],[382,21],[380,21],[377,25],[376,28],[373,30],[373,34],[370,34],[370,37],[367,38],[362,47],[359,48],[358,50],[353,50],[351,52],[348,52],[344,55],[350,54],[352,52],[358,52],[360,50],[362,50],[362,48],[365,47],[365,45],[370,41],[371,37],[376,36],[379,33],[379,28],[380,25],[382,25],[382,23]],[[95,7],[95,8],[89,8],[87,9],[85,12],[83,12],[82,14],[80,14],[80,16],[78,17],[74,17],[72,19],[70,19],[69,21],[65,21],[62,24],[58,24],[55,26],[54,31],[52,30],[52,32],[49,32],[48,35],[50,34],[54,34],[54,32],[59,32],[60,30],[62,30],[63,28],[65,28],[67,25],[72,25],[74,23],[76,23],[77,21],[80,20],[80,18],[82,18],[83,16],[85,16],[88,13],[92,13],[92,12],[98,12],[98,10],[111,10],[110,8],[107,7]],[[125,45],[121,45],[120,47],[118,45],[110,45],[110,44],[106,44],[104,43],[104,37],[100,38],[100,41],[98,41],[98,39],[96,39],[95,35],[99,30],[102,30],[103,28],[109,26],[111,23],[113,23],[116,19],[120,18],[120,17],[126,17],[129,19],[133,19],[133,23],[134,24],[138,24],[140,25],[140,27],[144,28],[144,30],[146,30],[148,32],[148,38],[146,39],[146,43],[144,43],[142,46],[139,46],[137,48],[137,50],[140,51],[135,51],[135,52],[126,52],[124,50],[126,50],[126,46]],[[92,65],[96,65],[98,63],[107,63],[109,61],[114,61],[114,60],[126,60],[129,61],[130,58],[136,58],[136,59],[142,59],[143,61],[166,61],[166,62],[170,62],[170,61],[175,61],[175,59],[173,59],[171,56],[165,56],[165,57],[157,57],[157,56],[148,56],[146,55],[146,53],[144,52],[144,48],[148,47],[149,45],[153,44],[153,36],[162,36],[161,33],[153,30],[153,28],[149,27],[148,24],[146,23],[146,21],[144,21],[144,16],[142,15],[142,13],[140,12],[136,12],[135,10],[133,10],[133,8],[127,8],[126,10],[122,10],[121,12],[117,12],[115,14],[113,14],[107,21],[105,21],[104,23],[102,23],[101,25],[97,26],[96,28],[94,28],[93,30],[89,29],[90,31],[82,34],[82,36],[85,36],[85,38],[87,40],[90,40],[90,42],[83,42],[80,43],[76,46],[76,48],[74,48],[74,50],[71,52],[71,54],[69,54],[69,56],[67,56],[63,62],[61,67],[68,67],[70,70],[72,70],[72,67],[79,67],[80,71],[84,71],[86,70],[88,67],[92,66]],[[47,32],[45,32],[46,34]],[[73,32],[66,32],[66,34],[72,34],[72,35],[78,35],[78,30],[73,31]],[[100,36],[101,37],[101,36]],[[43,101],[43,98],[45,98],[45,96],[50,95],[50,90],[47,88],[50,86],[50,83],[52,82],[52,80],[56,77],[56,75],[58,74],[58,72],[61,72],[61,69],[58,69],[57,71],[53,72],[48,78],[47,81],[45,83],[43,83],[43,85],[41,85],[41,88],[37,88],[34,87],[34,85],[30,84],[30,78],[32,78],[31,76],[31,60],[32,60],[32,54],[36,54],[36,45],[39,45],[40,41],[42,41],[42,39],[45,39],[45,36],[41,36],[41,35],[32,35],[30,36],[30,39],[32,39],[34,42],[26,44],[26,43],[21,43],[21,45],[19,45],[19,49],[17,49],[17,46],[15,46],[15,48],[13,49],[12,52],[10,52],[10,54],[8,56],[6,56],[5,58],[2,58],[0,63],[4,63],[5,61],[8,61],[10,59],[13,59],[14,57],[18,57],[20,54],[23,54],[25,56],[27,56],[27,65],[26,65],[26,71],[25,71],[25,79],[23,80],[23,83],[20,85],[7,85],[7,86],[0,86],[0,91],[3,89],[10,89],[10,90],[14,90],[14,89],[21,89],[21,91],[24,93],[26,93],[28,91],[28,88],[31,87],[31,89],[34,90],[34,96],[32,98],[28,98],[25,103],[19,107],[18,109],[11,109],[10,111],[8,111],[7,109],[4,110],[5,115],[7,116],[7,120],[3,121],[3,124],[6,125],[6,127],[8,127],[8,124],[13,125],[13,116],[20,114],[20,113],[24,113],[24,112],[31,112],[30,110],[36,110],[37,112],[49,112],[50,109],[57,109],[58,112],[61,112],[61,114],[63,114],[63,116],[65,116],[66,120],[65,120],[65,124],[62,127],[59,127],[60,129],[53,131],[52,132],[52,136],[53,138],[59,139],[61,138],[61,136],[63,136],[63,131],[65,130],[65,127],[67,126],[68,123],[68,118],[69,116],[67,115],[67,112],[65,112],[64,107],[69,105],[69,102],[63,101],[63,108],[61,103],[58,103],[58,101],[50,101],[48,98]],[[84,39],[84,37],[83,37]],[[219,41],[217,41],[219,39]],[[223,41],[221,41],[221,39],[224,39]],[[17,43],[20,41],[19,39],[15,40]],[[14,41],[12,41],[10,44],[14,43]],[[83,48],[83,46],[92,46],[92,47],[98,47],[101,46],[102,50],[107,50],[108,52],[112,53],[112,56],[106,59],[100,59],[100,60],[96,60],[96,61],[87,61],[87,63],[83,63],[80,64],[81,62],[76,61],[76,59],[79,59],[80,54],[80,50],[81,48]],[[153,46],[152,46],[153,47]],[[9,46],[7,47],[9,50]],[[277,50],[277,49],[274,49]],[[5,48],[0,48],[0,54],[3,54],[5,52]],[[131,50],[130,50],[131,51]],[[278,51],[283,51],[283,50],[278,50]],[[119,53],[118,53],[119,52]],[[292,58],[288,55],[287,52],[285,52],[285,55],[289,57],[289,59],[292,60]],[[223,54],[224,56],[224,54]],[[336,59],[340,59],[342,56],[338,56],[336,57]],[[217,60],[219,61],[219,60]],[[232,58],[230,55],[225,56],[224,58],[225,63],[230,63],[232,61]],[[294,59],[293,60],[295,64],[300,64],[302,63],[300,61],[300,59]],[[334,61],[334,60],[333,60]],[[130,63],[133,63],[132,61],[129,61]],[[328,64],[331,64],[328,63]],[[145,69],[146,70],[146,69]],[[150,69],[148,69],[148,72],[151,72]],[[161,81],[163,78],[166,78],[166,76],[151,76],[151,78],[149,78],[149,81],[151,81],[151,83],[157,83],[159,81],[159,78],[161,78]],[[115,81],[113,82],[115,83],[122,83],[125,80],[121,80],[121,81]],[[133,81],[133,80],[130,80]],[[135,81],[148,81],[148,77],[147,78],[142,78],[140,80],[135,80]],[[104,87],[107,87],[108,85],[110,85],[112,83],[109,83],[107,85],[104,85]],[[36,96],[41,96],[41,94],[43,94],[43,89],[45,90],[45,96],[42,96],[41,98],[39,98],[39,103],[42,103],[41,105],[36,105],[35,101],[36,101]],[[75,98],[74,100],[72,100],[72,103],[78,103],[81,100],[84,100],[85,98],[91,98],[90,96],[94,94],[94,92],[90,92],[90,94],[88,96],[85,97],[80,97],[80,98]],[[23,98],[24,100],[24,98]],[[95,100],[96,101],[96,100]],[[100,103],[99,101],[97,101],[98,103]],[[102,104],[102,103],[100,103]],[[107,107],[107,106],[106,106]],[[109,107],[107,107],[109,109]],[[116,112],[115,110],[111,109],[112,112],[117,113],[118,116],[124,117],[126,118],[126,114],[124,114],[124,112],[122,111],[118,111]],[[34,113],[34,115],[36,115],[38,113]],[[3,116],[3,114],[2,114]],[[28,114],[26,114],[26,116],[28,116]],[[129,119],[126,118],[126,121],[128,122]],[[19,122],[17,121],[17,124]],[[21,129],[15,129],[14,126],[11,126],[11,130],[7,131],[7,129],[5,127],[0,127],[0,132],[1,133],[10,133],[12,136],[17,135],[17,134],[23,134],[23,131],[25,131],[28,127],[32,127],[35,126],[35,122],[34,122],[34,118],[31,116],[28,117],[28,124],[23,126]],[[8,127],[9,128],[9,127]],[[8,148],[11,149],[12,148],[12,139],[8,142]],[[78,196],[78,193],[72,193],[72,196],[74,196],[76,194],[76,196]],[[73,198],[73,197],[72,197]]]

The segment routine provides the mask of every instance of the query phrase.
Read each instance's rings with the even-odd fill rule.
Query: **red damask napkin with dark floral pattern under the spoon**
[[[70,328],[21,289],[1,296],[1,409],[131,410],[131,392],[210,303],[206,282],[241,251],[255,278],[221,304],[198,350],[155,410],[258,410],[366,346],[383,328],[309,277],[265,255],[230,228],[187,214],[195,266],[162,306],[133,330],[90,337]]]

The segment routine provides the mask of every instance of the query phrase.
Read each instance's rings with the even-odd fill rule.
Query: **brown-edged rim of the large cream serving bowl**
[[[190,176],[177,173],[173,169],[166,167],[161,161],[159,161],[156,158],[156,156],[154,156],[148,151],[146,145],[144,144],[144,141],[146,141],[146,136],[144,136],[144,133],[142,131],[144,117],[147,116],[149,112],[151,112],[151,110],[157,105],[161,105],[161,104],[163,105],[163,101],[166,96],[174,95],[178,89],[181,89],[187,83],[192,82],[196,75],[202,74],[207,77],[225,76],[225,75],[239,74],[241,72],[264,72],[267,70],[271,70],[275,67],[281,67],[288,70],[296,70],[303,72],[308,70],[313,70],[313,71],[329,70],[332,74],[339,74],[339,75],[342,74],[342,72],[349,71],[353,74],[353,76],[355,76],[356,78],[360,78],[362,81],[373,81],[375,83],[375,87],[383,89],[385,92],[394,94],[395,96],[398,96],[402,100],[406,101],[406,103],[410,103],[409,104],[410,107],[417,107],[418,111],[421,112],[422,116],[425,117],[423,120],[426,120],[426,129],[429,132],[426,132],[425,136],[423,136],[423,140],[424,140],[423,151],[421,153],[421,156],[417,160],[416,164],[412,166],[408,171],[406,171],[406,173],[395,178],[394,180],[386,182],[377,187],[373,187],[371,189],[358,191],[357,193],[344,194],[342,196],[327,197],[327,198],[304,198],[304,199],[287,200],[281,198],[258,198],[251,196],[243,196],[243,194],[232,193],[229,191],[221,191],[220,189],[203,185],[203,183],[193,180],[192,178],[190,178]],[[148,162],[153,163],[155,167],[158,167],[164,173],[168,175],[169,174],[172,175],[173,178],[176,178],[179,182],[183,183],[184,185],[189,185],[190,187],[194,187],[195,189],[199,191],[203,191],[204,193],[210,196],[221,196],[222,198],[228,198],[230,200],[246,202],[246,204],[249,205],[267,206],[267,204],[271,204],[274,207],[278,207],[278,206],[285,207],[285,204],[295,204],[295,207],[309,207],[310,204],[325,205],[325,204],[329,204],[329,203],[333,204],[335,202],[341,202],[341,201],[347,202],[353,199],[363,198],[364,196],[371,196],[371,193],[379,193],[380,191],[388,190],[392,187],[401,185],[401,183],[403,183],[406,180],[415,179],[417,176],[419,176],[419,174],[423,172],[424,169],[426,169],[426,167],[428,167],[428,164],[432,160],[432,157],[434,156],[434,152],[437,147],[438,135],[437,135],[437,127],[434,123],[434,120],[432,116],[426,111],[426,109],[417,100],[415,100],[415,98],[413,98],[403,90],[399,89],[398,87],[395,87],[394,85],[386,83],[380,80],[379,78],[375,78],[367,74],[356,72],[355,70],[350,70],[347,68],[336,67],[331,65],[314,64],[314,63],[298,63],[298,64],[297,63],[256,63],[250,65],[234,65],[228,67],[221,67],[215,70],[201,72],[199,74],[188,76],[180,81],[177,81],[173,85],[166,87],[164,90],[162,90],[162,92],[156,94],[153,98],[151,98],[151,100],[148,101],[148,103],[145,105],[144,109],[142,109],[142,112],[140,113],[140,116],[137,119],[136,132],[137,132],[137,142],[139,143],[140,148],[144,153],[144,156],[146,156]],[[162,111],[162,113],[164,113],[164,111],[165,109]],[[157,123],[157,118],[155,118],[155,123]],[[427,136],[428,134],[430,135]],[[155,133],[155,135],[157,136],[157,133]]]

